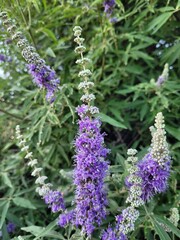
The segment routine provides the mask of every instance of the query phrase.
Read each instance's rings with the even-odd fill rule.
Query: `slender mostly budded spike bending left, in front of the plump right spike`
[[[135,157],[137,151],[136,149],[129,149],[127,154],[129,155],[127,162],[130,164],[128,168],[129,176],[126,179],[126,184],[129,188],[129,195],[126,200],[130,204],[125,208],[122,213],[116,216],[116,226],[115,228],[109,227],[102,234],[102,240],[126,240],[127,234],[134,230],[134,223],[139,217],[139,211],[137,207],[144,204],[141,198],[141,178],[137,176],[137,161],[138,158]]]

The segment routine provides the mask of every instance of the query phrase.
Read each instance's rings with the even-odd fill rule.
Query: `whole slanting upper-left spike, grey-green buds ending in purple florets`
[[[55,71],[46,65],[36,49],[29,44],[21,32],[16,30],[16,26],[8,18],[6,12],[1,12],[0,17],[7,31],[12,35],[12,40],[17,41],[17,47],[21,49],[21,54],[28,63],[29,73],[32,75],[34,83],[47,90],[46,98],[49,102],[54,101],[54,93],[60,83]]]

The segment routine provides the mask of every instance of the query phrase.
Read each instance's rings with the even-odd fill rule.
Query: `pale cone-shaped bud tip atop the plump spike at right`
[[[169,158],[169,150],[166,141],[164,117],[161,112],[156,115],[155,128],[156,131],[152,136],[151,153],[159,165],[163,166]]]

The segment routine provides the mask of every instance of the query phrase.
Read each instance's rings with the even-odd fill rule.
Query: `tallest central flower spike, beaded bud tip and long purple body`
[[[83,81],[79,84],[83,95],[81,101],[83,104],[77,107],[77,113],[80,117],[78,121],[79,130],[75,139],[75,170],[74,184],[75,191],[75,209],[69,213],[60,215],[59,225],[65,226],[68,223],[80,227],[83,234],[88,237],[93,233],[96,225],[100,226],[102,220],[106,217],[106,190],[104,179],[108,170],[108,162],[105,158],[109,152],[104,146],[105,133],[101,133],[101,122],[95,114],[99,109],[92,105],[95,99],[90,89],[94,83],[90,81],[91,71],[86,68],[89,63],[88,58],[84,58],[85,47],[82,45],[84,39],[81,38],[81,27],[74,29],[75,42],[78,44],[75,52],[80,55],[76,61],[81,66],[79,77]]]

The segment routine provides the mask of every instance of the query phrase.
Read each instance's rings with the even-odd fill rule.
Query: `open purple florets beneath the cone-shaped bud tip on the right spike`
[[[142,199],[150,200],[156,193],[166,191],[170,175],[170,160],[160,166],[151,153],[138,163],[138,176],[142,179]]]

